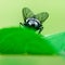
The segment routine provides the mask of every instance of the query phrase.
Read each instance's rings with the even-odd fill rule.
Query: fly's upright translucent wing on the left
[[[28,8],[24,8],[23,9],[23,17],[24,21],[26,22],[27,18],[32,17],[35,14],[28,9]]]

